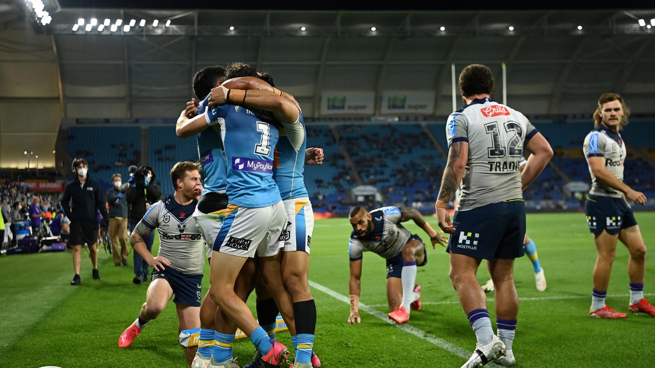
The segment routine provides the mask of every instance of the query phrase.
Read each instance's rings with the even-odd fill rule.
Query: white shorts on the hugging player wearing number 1
[[[238,257],[271,257],[280,247],[280,234],[286,224],[282,201],[262,208],[243,208],[230,204],[214,250]]]

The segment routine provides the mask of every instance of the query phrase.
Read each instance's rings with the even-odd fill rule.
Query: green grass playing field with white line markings
[[[652,254],[655,213],[636,217]],[[430,223],[436,227],[434,219]],[[407,227],[427,240],[413,224]],[[361,301],[368,308],[360,308],[360,325],[346,323],[348,304],[339,295],[348,296],[349,232],[346,219],[329,219],[316,221],[312,236],[315,348],[323,367],[462,365],[476,340],[451,287],[443,249],[430,250],[428,264],[419,268],[423,310],[413,312],[409,324],[400,328],[384,320],[384,260],[366,253]],[[526,257],[517,260],[516,285],[523,299],[514,342],[518,367],[654,367],[655,318],[588,317],[595,248],[584,215],[529,214],[528,234],[536,242],[548,289],[536,291],[531,263]],[[619,246],[607,298],[622,312],[629,301],[627,257],[626,248]],[[654,262],[651,257],[646,265],[647,295],[655,293]],[[90,261],[83,258],[82,285],[72,287],[70,251],[0,257],[0,367],[184,367],[172,303],[130,348],[117,346],[119,335],[138,314],[147,284],[132,284],[132,267],[115,267],[102,251],[99,268],[102,280],[94,282]],[[486,268],[477,276],[485,282]],[[204,289],[207,284],[208,277]],[[493,314],[493,295],[488,297]],[[278,338],[291,346],[288,333],[278,333]],[[234,356],[240,365],[252,354],[248,340],[236,342]]]

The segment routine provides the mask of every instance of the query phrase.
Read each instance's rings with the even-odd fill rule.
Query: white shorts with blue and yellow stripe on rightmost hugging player
[[[305,251],[309,254],[314,232],[314,210],[309,198],[293,198],[284,201],[287,223],[280,235],[280,248],[284,251]]]

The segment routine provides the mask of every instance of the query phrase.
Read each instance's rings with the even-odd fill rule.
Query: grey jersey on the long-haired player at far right
[[[605,128],[604,125],[591,130],[584,138],[584,145],[582,146],[584,156],[589,157],[604,157],[605,168],[620,181],[623,181],[624,162],[626,160],[626,145],[621,138],[621,135]],[[591,191],[589,194],[597,196],[610,196],[615,198],[622,198],[623,193],[606,185],[602,181],[596,179],[589,166],[589,175],[591,175]]]

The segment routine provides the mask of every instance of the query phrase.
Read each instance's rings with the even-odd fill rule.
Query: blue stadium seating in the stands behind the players
[[[528,116],[537,128],[550,141],[555,156],[552,164],[529,187],[525,193],[529,211],[561,212],[580,211],[584,204],[584,193],[567,193],[565,184],[570,181],[590,183],[586,160],[582,156],[582,141],[593,128],[588,115],[533,115]],[[307,122],[308,146],[323,147],[326,150],[326,162],[320,167],[308,167],[305,170],[310,198],[314,203],[317,217],[346,215],[348,209],[357,202],[349,196],[350,189],[358,184],[376,186],[383,194],[381,202],[369,203],[370,206],[396,205],[414,206],[424,213],[434,211],[434,198],[440,185],[441,170],[445,165],[445,120],[447,117],[330,117],[310,118]],[[134,150],[147,147],[147,153],[138,159],[137,164],[151,164],[161,177],[176,160],[197,159],[195,141],[178,139],[172,130],[175,119],[65,119],[62,122],[60,139],[69,137],[69,132],[81,134],[88,132],[97,136],[105,132],[107,136],[121,137],[121,143],[134,144]],[[75,129],[71,129],[75,128]],[[132,128],[132,130],[124,130]],[[98,130],[96,133],[92,131]],[[169,132],[170,130],[170,132]],[[121,134],[122,132],[122,134]],[[142,132],[142,134],[138,134]],[[62,134],[64,133],[64,134]],[[417,144],[410,145],[411,150],[398,153],[398,158],[385,156],[391,147],[398,144],[391,134],[403,134],[406,139],[416,137]],[[75,136],[73,134],[73,136]],[[102,134],[100,135],[102,136]],[[130,142],[126,141],[130,136]],[[626,160],[626,183],[635,185],[635,190],[643,191],[649,198],[645,207],[635,210],[653,210],[655,208],[655,149],[650,144],[650,137],[655,136],[655,117],[633,115],[630,125],[622,132],[628,144],[629,156]],[[58,139],[58,142],[60,141]],[[386,139],[386,140],[385,140]],[[103,174],[126,172],[123,161],[115,160],[112,149],[120,148],[117,142],[107,143],[105,149],[98,151],[98,138],[95,140],[79,139],[88,142],[88,147],[77,142],[65,141],[65,154],[69,157],[79,156],[77,152],[84,149],[93,151],[94,159],[105,162]],[[365,149],[363,143],[375,143],[375,147]],[[388,144],[386,144],[386,143]],[[75,147],[70,147],[71,145]],[[58,147],[62,147],[58,143]],[[118,147],[118,148],[117,148]],[[359,147],[360,149],[356,149]],[[441,148],[441,149],[440,149]],[[60,150],[58,150],[60,151]],[[413,159],[413,155],[422,160]],[[429,155],[428,155],[429,153]],[[82,155],[84,156],[84,155]],[[109,157],[107,159],[100,157]],[[414,157],[416,158],[416,157]],[[113,160],[113,161],[112,161]],[[352,162],[352,164],[348,164]],[[112,165],[113,164],[113,165]],[[109,166],[107,168],[107,166]],[[69,176],[60,168],[60,173]],[[411,170],[409,170],[411,169]],[[394,172],[403,175],[394,175]],[[432,172],[430,172],[432,171]],[[419,174],[417,174],[419,173]],[[100,173],[96,172],[96,175]],[[125,173],[126,174],[126,173]],[[97,176],[96,176],[97,177]],[[360,178],[360,180],[356,178]],[[72,179],[72,178],[71,178]],[[111,177],[100,177],[103,189],[108,189]],[[411,185],[405,185],[407,181]],[[164,191],[168,191],[162,185]],[[172,189],[170,189],[172,191]],[[420,195],[419,195],[420,194]],[[635,206],[636,207],[636,206]]]

